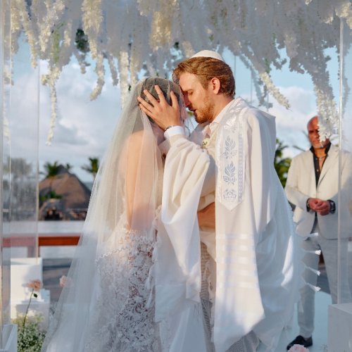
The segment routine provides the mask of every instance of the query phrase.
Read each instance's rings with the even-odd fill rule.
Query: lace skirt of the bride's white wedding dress
[[[116,248],[96,260],[96,315],[84,351],[161,351],[148,284],[155,241],[131,232],[117,236]]]

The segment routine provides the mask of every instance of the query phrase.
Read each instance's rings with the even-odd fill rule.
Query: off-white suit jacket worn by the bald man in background
[[[292,159],[287,176],[285,191],[287,199],[294,204],[294,222],[296,232],[308,237],[314,220],[315,212],[307,211],[308,198],[319,198],[324,201],[331,199],[335,202],[335,213],[327,215],[318,214],[320,234],[326,239],[337,239],[337,218],[341,212],[341,236],[346,238],[352,235],[351,216],[351,177],[352,161],[351,154],[342,152],[341,158],[341,204],[338,203],[339,184],[339,149],[331,145],[328,156],[322,166],[318,186],[315,186],[315,170],[311,151],[304,151]]]

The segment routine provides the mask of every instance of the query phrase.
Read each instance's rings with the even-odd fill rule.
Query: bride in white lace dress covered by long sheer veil
[[[182,104],[180,88],[140,81],[120,114],[96,175],[87,219],[42,351],[158,351],[148,284],[161,204],[163,131],[139,109],[154,85]],[[181,105],[182,106],[182,105]],[[99,121],[97,120],[97,123]]]

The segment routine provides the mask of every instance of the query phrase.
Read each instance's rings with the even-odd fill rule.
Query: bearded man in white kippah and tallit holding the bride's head
[[[199,123],[190,140],[175,94],[169,105],[156,87],[158,100],[145,92],[150,103],[139,103],[170,142],[161,221],[187,276],[185,296],[192,289],[201,296],[208,351],[255,351],[260,341],[273,351],[291,318],[299,276],[291,215],[273,165],[275,118],[234,99],[230,66],[214,51],[177,65],[173,79]]]

